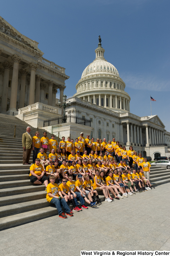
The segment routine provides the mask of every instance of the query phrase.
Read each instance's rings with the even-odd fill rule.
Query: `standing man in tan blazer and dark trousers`
[[[27,132],[22,134],[22,147],[23,147],[23,164],[30,164],[29,158],[32,151],[33,136],[30,133],[31,128],[27,127]]]

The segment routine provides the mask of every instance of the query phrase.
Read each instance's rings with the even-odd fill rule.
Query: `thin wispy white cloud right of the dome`
[[[141,74],[122,74],[122,79],[127,87],[138,90],[170,91],[169,81],[158,79],[155,76]]]

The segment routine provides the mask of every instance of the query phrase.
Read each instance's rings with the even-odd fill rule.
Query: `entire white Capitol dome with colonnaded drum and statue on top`
[[[76,84],[77,92],[74,97],[116,112],[130,112],[130,96],[125,92],[126,85],[118,70],[104,59],[104,52],[99,40],[95,50],[96,58],[84,69],[81,79]]]

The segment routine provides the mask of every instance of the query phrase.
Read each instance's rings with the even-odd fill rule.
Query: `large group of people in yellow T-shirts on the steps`
[[[63,136],[59,145],[54,134],[50,140],[46,132],[41,139],[39,132],[33,137],[36,154],[30,167],[30,181],[45,185],[47,201],[56,205],[61,218],[88,209],[85,202],[91,207],[100,205],[98,191],[103,192],[106,202],[112,202],[154,188],[149,181],[150,163],[142,154],[137,155],[132,146],[126,150],[115,138],[95,142],[89,137],[85,139],[81,132],[74,142]],[[69,203],[73,204],[73,211]]]

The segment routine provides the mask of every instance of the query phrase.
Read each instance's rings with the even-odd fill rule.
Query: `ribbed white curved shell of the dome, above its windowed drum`
[[[119,76],[117,69],[104,58],[97,58],[92,63],[90,63],[83,71],[81,79],[85,76],[91,74],[114,74],[114,76]]]

